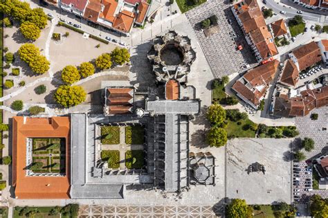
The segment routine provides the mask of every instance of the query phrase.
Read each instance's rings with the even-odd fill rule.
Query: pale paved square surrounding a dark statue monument
[[[291,203],[291,162],[284,160],[290,139],[239,138],[227,144],[226,189],[229,199],[246,199],[250,204]],[[262,172],[250,172],[258,162]]]

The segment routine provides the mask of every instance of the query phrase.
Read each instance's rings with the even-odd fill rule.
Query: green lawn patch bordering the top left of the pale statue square
[[[249,119],[246,120],[239,120],[237,122],[241,122],[240,125],[237,124],[237,122],[233,122],[231,120],[227,120],[228,125],[226,127],[226,131],[228,132],[228,136],[235,136],[236,138],[255,138],[255,131],[251,129],[244,130],[243,126],[250,124],[253,125],[254,122],[252,122]]]

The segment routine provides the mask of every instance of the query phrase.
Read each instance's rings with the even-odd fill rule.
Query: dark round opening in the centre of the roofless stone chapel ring
[[[166,44],[161,49],[161,60],[167,66],[179,65],[183,62],[183,51],[180,46]]]

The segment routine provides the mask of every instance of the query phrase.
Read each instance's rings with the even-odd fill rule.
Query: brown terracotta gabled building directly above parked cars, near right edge
[[[298,66],[298,71],[303,71],[321,61],[320,48],[316,42],[312,41],[293,50],[292,53],[289,53],[289,57]]]

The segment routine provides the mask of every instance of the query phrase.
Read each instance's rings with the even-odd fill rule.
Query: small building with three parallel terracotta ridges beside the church
[[[131,113],[134,105],[134,89],[132,88],[106,88],[105,89],[105,107],[106,115]]]

